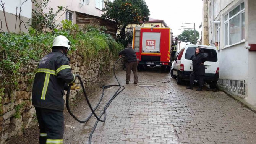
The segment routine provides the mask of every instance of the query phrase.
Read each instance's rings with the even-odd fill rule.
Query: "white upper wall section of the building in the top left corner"
[[[18,6],[17,14],[19,15],[19,9],[21,4],[25,0],[2,0],[5,3],[5,12],[12,13],[16,15],[16,6]],[[0,6],[0,10],[3,11],[2,7]],[[21,7],[21,16],[31,18],[32,16],[32,2],[30,0],[24,2]]]

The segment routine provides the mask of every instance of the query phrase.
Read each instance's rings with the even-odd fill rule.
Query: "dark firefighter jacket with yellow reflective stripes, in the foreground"
[[[32,104],[35,107],[64,110],[64,85],[75,82],[69,58],[53,49],[38,64],[32,89]]]

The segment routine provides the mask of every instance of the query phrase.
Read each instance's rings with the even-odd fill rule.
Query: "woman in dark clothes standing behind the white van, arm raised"
[[[195,54],[192,56],[193,71],[190,74],[190,86],[187,89],[193,89],[194,79],[197,76],[199,88],[196,91],[202,91],[205,73],[204,62],[207,59],[207,56],[203,52],[202,48],[196,48]]]

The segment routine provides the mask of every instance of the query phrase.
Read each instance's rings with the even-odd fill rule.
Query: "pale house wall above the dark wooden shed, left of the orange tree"
[[[83,0],[82,0],[83,1]],[[103,14],[102,10],[95,8],[95,0],[90,0],[89,5],[82,6],[81,0],[51,0],[48,4],[49,7],[53,8],[53,10],[57,10],[58,6],[64,6],[67,10],[71,12],[80,12],[86,13],[89,15],[99,16]],[[82,7],[81,7],[82,6]],[[44,10],[45,13],[49,12],[49,10]],[[64,14],[63,14],[64,13]],[[63,14],[62,16],[60,16]],[[60,15],[57,16],[56,23],[60,23],[65,17],[65,11],[62,11]],[[76,24],[76,15],[73,13],[73,23]]]

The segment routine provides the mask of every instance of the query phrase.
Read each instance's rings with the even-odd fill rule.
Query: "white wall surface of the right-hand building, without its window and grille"
[[[250,52],[244,46],[256,44],[256,15],[255,0],[211,0],[212,13],[209,17],[209,42],[216,40],[217,27],[212,21],[220,19],[220,79],[245,80],[245,99],[250,104],[256,105],[256,52]],[[224,15],[245,2],[245,40],[238,44],[224,47]],[[209,13],[209,11],[208,11]],[[209,15],[208,15],[209,16]],[[215,37],[215,40],[214,40]]]

